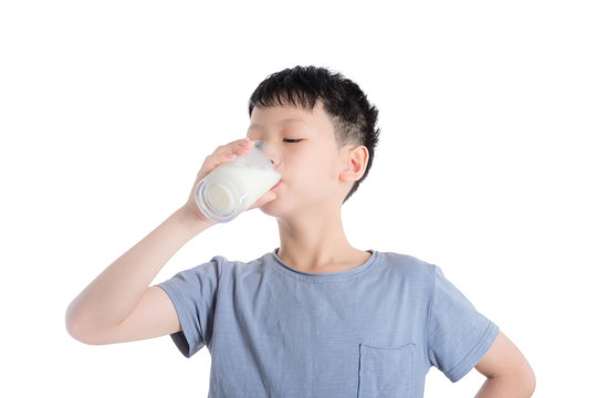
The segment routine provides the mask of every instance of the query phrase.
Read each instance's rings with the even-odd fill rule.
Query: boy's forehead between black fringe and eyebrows
[[[287,125],[333,133],[333,124],[321,104],[312,111],[291,105],[254,107],[250,122],[249,133],[279,129]]]

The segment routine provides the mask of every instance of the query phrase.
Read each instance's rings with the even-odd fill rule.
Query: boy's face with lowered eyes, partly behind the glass
[[[294,106],[255,107],[247,137],[273,144],[282,154],[283,176],[272,190],[276,199],[261,207],[270,216],[299,216],[341,207],[352,184],[339,172],[346,150],[337,147],[333,124],[321,104],[313,111]]]

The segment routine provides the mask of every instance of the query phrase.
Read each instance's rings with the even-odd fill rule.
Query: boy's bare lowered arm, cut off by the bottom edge
[[[534,394],[534,371],[523,354],[501,332],[475,369],[487,376],[475,398],[526,398]]]

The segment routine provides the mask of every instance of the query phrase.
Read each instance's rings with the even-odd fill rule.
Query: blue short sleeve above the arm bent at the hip
[[[430,364],[456,383],[466,376],[496,338],[499,327],[435,265],[435,287],[428,321]]]

